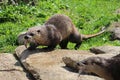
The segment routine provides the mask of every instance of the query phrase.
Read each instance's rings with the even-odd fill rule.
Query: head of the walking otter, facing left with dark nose
[[[48,43],[47,41],[47,33],[44,25],[35,26],[28,29],[26,35],[24,36],[24,45],[27,46],[27,43],[33,45],[45,45]]]

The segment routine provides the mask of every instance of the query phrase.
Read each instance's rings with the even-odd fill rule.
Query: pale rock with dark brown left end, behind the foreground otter
[[[119,46],[99,46],[99,47],[93,47],[90,49],[91,52],[95,54],[113,54],[114,56],[120,53],[120,47]]]

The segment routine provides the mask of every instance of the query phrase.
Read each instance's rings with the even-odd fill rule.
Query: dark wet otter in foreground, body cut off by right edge
[[[89,57],[82,61],[63,57],[63,62],[80,73],[94,73],[105,80],[120,80],[120,54],[109,59]]]

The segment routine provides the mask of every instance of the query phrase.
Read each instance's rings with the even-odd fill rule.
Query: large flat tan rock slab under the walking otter
[[[22,49],[22,51],[21,51]],[[37,80],[77,80],[78,73],[65,67],[62,57],[71,57],[74,60],[83,60],[95,54],[81,50],[53,50],[44,51],[41,49],[29,51],[24,46],[16,49],[24,66],[33,74]],[[20,56],[21,54],[21,56]],[[97,76],[81,75],[80,80],[104,80]]]

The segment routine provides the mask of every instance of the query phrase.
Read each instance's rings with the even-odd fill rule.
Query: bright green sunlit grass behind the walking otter
[[[6,5],[0,7],[0,52],[14,52],[17,35],[27,28],[43,24],[50,16],[60,13],[68,15],[82,34],[97,33],[102,26],[120,21],[114,14],[120,8],[119,0],[39,0],[36,6]],[[119,46],[119,41],[109,41],[106,32],[82,43],[80,49],[101,45]],[[73,43],[68,48],[74,49]]]

